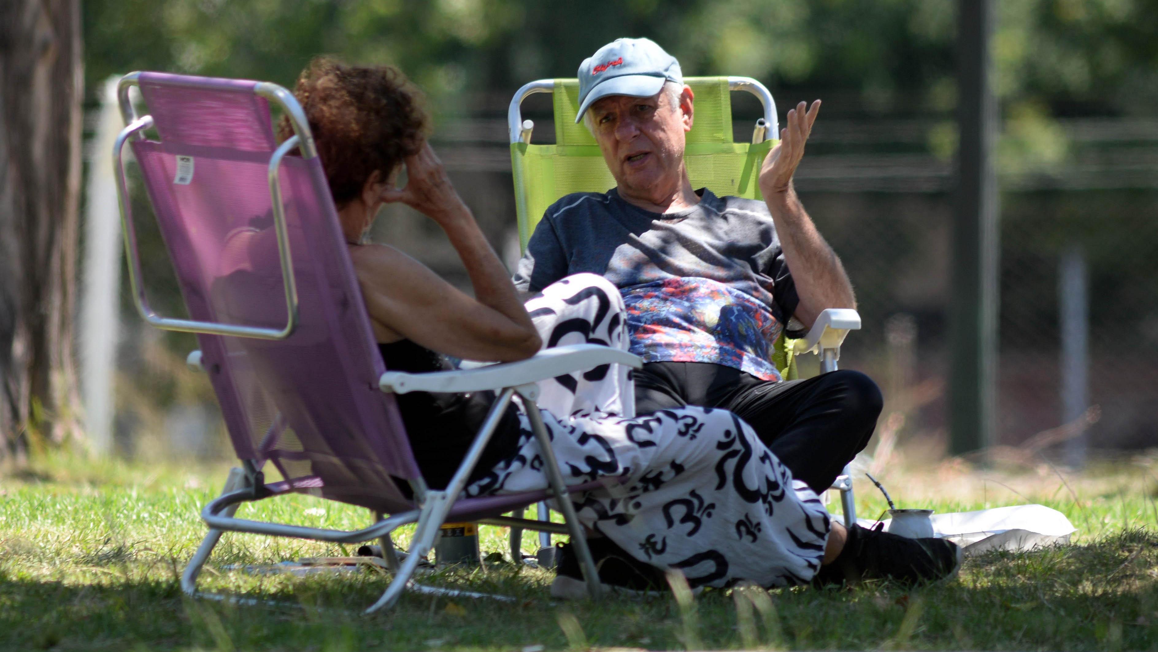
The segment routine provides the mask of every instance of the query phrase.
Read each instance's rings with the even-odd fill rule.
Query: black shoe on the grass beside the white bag
[[[891,579],[917,585],[946,579],[961,567],[961,548],[944,539],[908,539],[860,526],[849,528],[844,550],[813,578],[815,586]]]

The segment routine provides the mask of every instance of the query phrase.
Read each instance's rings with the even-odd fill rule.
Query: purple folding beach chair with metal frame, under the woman
[[[149,115],[137,116],[129,97],[133,86],[140,87]],[[571,500],[557,501],[565,525],[501,514],[548,497],[601,489],[598,483],[565,485],[535,406],[535,383],[603,364],[638,368],[639,359],[584,344],[468,371],[388,371],[390,361],[379,354],[325,174],[294,96],[272,83],[148,72],[125,75],[118,90],[127,126],[117,138],[113,163],[133,299],[148,323],[197,334],[200,350],[190,354],[190,364],[208,374],[242,461],[222,495],[201,511],[210,530],[185,569],[183,589],[196,594],[197,576],[223,532],[338,543],[381,540],[394,577],[367,609],[374,611],[394,605],[412,585],[418,563],[448,520],[570,534],[585,577],[594,579]],[[271,102],[290,117],[295,134],[280,146],[271,127]],[[145,137],[149,127],[159,140]],[[125,142],[140,164],[188,320],[160,316],[148,307],[122,166]],[[294,149],[300,155],[287,155]],[[445,490],[423,481],[393,396],[418,390],[496,390],[498,396]],[[515,395],[528,408],[542,445],[550,489],[459,499]],[[266,483],[266,462],[285,479]],[[367,507],[374,522],[345,532],[234,517],[243,503],[290,492]],[[400,564],[390,533],[406,523],[417,529]],[[587,586],[598,596],[599,584]]]

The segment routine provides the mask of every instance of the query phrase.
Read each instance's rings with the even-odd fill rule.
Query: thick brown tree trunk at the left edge
[[[79,434],[80,0],[0,0],[0,460]]]

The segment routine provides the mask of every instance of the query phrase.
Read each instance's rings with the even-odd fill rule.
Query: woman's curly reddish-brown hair
[[[298,78],[294,96],[306,111],[338,208],[361,193],[374,170],[384,180],[422,147],[426,113],[419,93],[393,66],[346,66],[318,57]],[[278,135],[293,135],[286,116]]]

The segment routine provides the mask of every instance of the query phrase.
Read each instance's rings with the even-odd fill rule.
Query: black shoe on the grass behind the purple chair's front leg
[[[630,595],[659,595],[667,591],[664,571],[645,564],[611,542],[610,539],[588,539],[587,547],[595,559],[599,583],[606,592]],[[551,598],[580,600],[587,598],[587,583],[582,579],[579,556],[571,543],[559,542],[555,548],[555,581]]]

